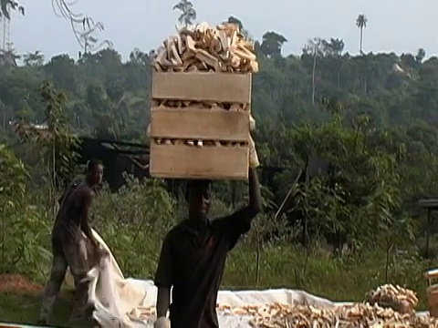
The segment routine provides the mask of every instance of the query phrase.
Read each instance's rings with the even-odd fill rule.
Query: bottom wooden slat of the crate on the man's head
[[[151,143],[150,174],[167,179],[247,179],[249,148]]]

